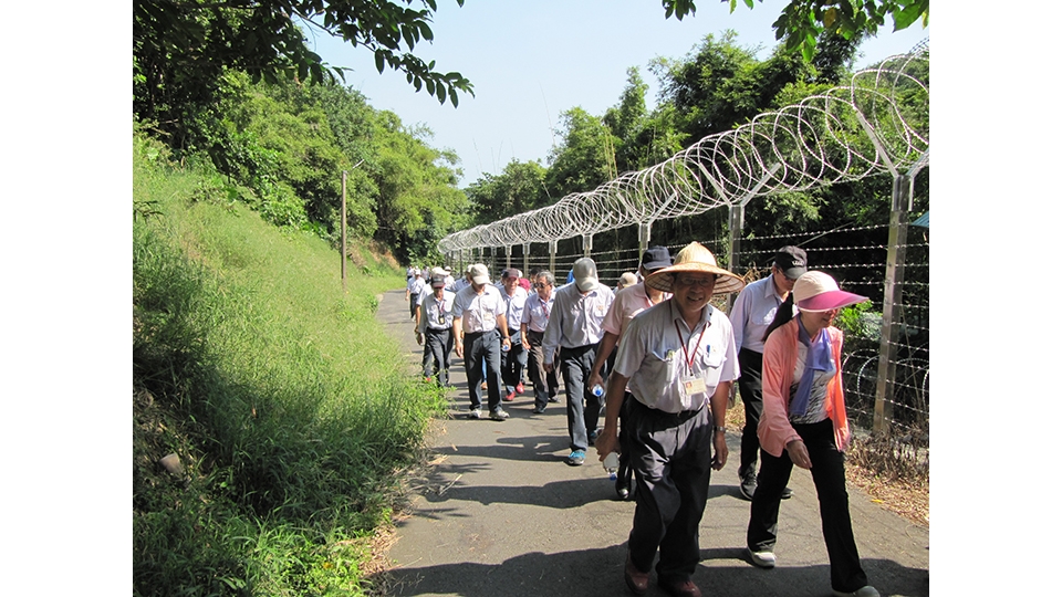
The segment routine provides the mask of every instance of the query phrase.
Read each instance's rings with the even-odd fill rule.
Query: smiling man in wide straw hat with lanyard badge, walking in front
[[[716,265],[711,251],[698,242],[645,283],[673,296],[636,315],[624,333],[608,379],[597,454],[604,460],[617,451],[626,387],[634,399],[626,402],[623,447],[635,472],[637,506],[624,580],[636,595],[648,590],[648,570],[659,549],[660,587],[699,597],[690,580],[700,561],[698,525],[711,469],[727,463],[727,400],[739,376],[730,321],[708,301],[745,284]]]

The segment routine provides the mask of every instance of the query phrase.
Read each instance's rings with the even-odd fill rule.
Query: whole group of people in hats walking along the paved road
[[[657,583],[668,594],[700,595],[691,579],[700,559],[699,524],[711,471],[728,460],[726,411],[737,380],[746,411],[738,478],[741,496],[751,501],[749,561],[774,567],[780,503],[792,494],[788,483],[796,465],[811,471],[819,494],[833,594],[878,595],[862,568],[848,514],[843,335],[833,326],[839,310],[867,297],[809,271],[806,253],[795,247],[781,248],[770,275],[748,285],[697,242],[674,261],[666,248],[648,248],[637,282],[618,292],[601,284],[594,262],[584,258],[560,289],[550,272],[535,274],[534,293],[524,293],[518,308],[507,281],[519,272],[507,270],[500,289],[482,264],[468,273],[469,285],[450,293],[449,307],[440,279],[435,306],[421,303],[421,310],[440,329],[451,328],[468,376],[469,418],[482,417],[485,377],[490,418],[509,417],[501,404],[519,381],[503,378],[501,362],[514,342],[530,356],[533,412],[543,412],[556,395],[561,371],[566,462],[583,464],[592,444],[598,460],[617,452],[616,492],[636,502],[624,565],[632,593],[648,590],[656,561]],[[739,293],[729,316],[710,303],[728,293]],[[427,354],[426,346],[426,363]],[[595,391],[601,387],[603,394]]]

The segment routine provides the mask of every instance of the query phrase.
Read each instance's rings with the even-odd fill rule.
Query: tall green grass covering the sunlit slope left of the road
[[[134,135],[137,595],[360,595],[441,394],[375,321],[385,263],[264,223]],[[176,452],[184,474],[157,465]]]

